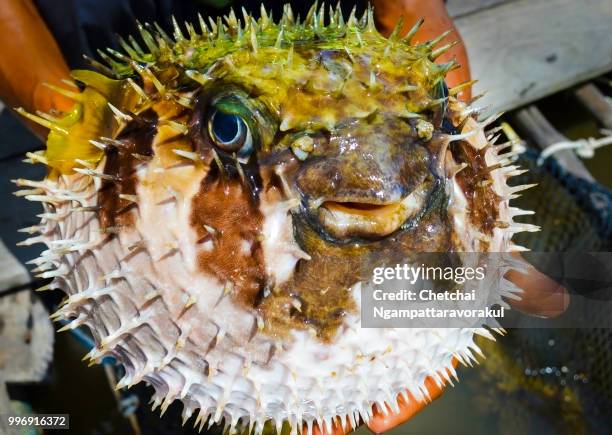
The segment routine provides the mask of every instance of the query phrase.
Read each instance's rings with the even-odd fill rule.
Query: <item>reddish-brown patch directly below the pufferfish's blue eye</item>
[[[192,201],[191,225],[199,240],[212,240],[211,251],[198,255],[200,270],[221,282],[233,284],[233,296],[240,304],[252,308],[265,285],[264,258],[258,235],[262,215],[238,180],[202,180],[200,191]],[[216,234],[211,235],[205,226]],[[242,252],[243,241],[251,252]]]

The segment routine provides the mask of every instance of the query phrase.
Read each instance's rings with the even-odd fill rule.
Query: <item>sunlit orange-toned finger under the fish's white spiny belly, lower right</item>
[[[453,358],[453,367],[457,366],[457,360]],[[425,408],[433,400],[437,399],[442,395],[444,386],[439,386],[432,377],[428,376],[425,378],[425,388],[429,391],[428,400],[418,400],[409,391],[408,401],[404,399],[403,395],[397,396],[397,402],[399,405],[399,412],[394,413],[390,408],[387,407],[387,413],[383,413],[377,407],[374,408],[374,417],[368,422],[368,428],[374,433],[386,432],[399,426],[402,423],[410,420],[423,408]]]

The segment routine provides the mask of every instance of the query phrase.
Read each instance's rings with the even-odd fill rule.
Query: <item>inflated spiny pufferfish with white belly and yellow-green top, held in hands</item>
[[[256,433],[356,427],[471,364],[483,328],[362,328],[368,265],[411,252],[512,252],[536,227],[510,199],[522,171],[495,121],[448,89],[441,37],[379,34],[369,9],[231,12],[101,53],[50,129],[45,212],[25,243],[56,319],[87,326],[94,362],[144,381],[154,406]],[[469,84],[467,84],[469,85]],[[506,151],[506,152],[504,152]],[[399,257],[398,257],[399,256]],[[512,268],[508,263],[506,269]],[[519,290],[499,282],[499,293]]]

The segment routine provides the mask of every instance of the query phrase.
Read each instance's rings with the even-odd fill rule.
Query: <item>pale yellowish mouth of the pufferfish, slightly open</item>
[[[427,189],[417,189],[399,201],[320,201],[315,216],[320,226],[336,239],[381,239],[399,230],[425,207]]]

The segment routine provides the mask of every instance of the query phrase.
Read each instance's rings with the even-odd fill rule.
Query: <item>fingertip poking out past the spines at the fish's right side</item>
[[[520,254],[515,255],[522,259]],[[567,289],[530,264],[525,273],[513,269],[506,274],[506,278],[523,290],[521,300],[508,300],[512,308],[523,313],[556,317],[569,306]]]

